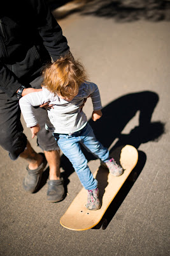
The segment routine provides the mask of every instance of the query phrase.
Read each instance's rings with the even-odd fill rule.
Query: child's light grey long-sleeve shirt
[[[60,99],[55,93],[43,88],[40,92],[33,92],[25,95],[19,100],[20,109],[27,127],[38,124],[36,116],[32,111],[32,106],[39,106],[46,102],[53,104],[53,108],[48,109],[49,120],[46,120],[46,129],[60,134],[69,134],[82,129],[87,123],[87,116],[81,111],[80,106],[83,100],[91,97],[94,110],[99,110],[101,97],[99,89],[94,83],[83,83],[80,86],[78,95],[73,100]]]

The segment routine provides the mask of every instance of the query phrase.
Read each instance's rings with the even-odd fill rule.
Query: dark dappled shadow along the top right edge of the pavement
[[[83,14],[114,18],[117,22],[170,20],[170,3],[163,0],[96,0],[87,5]]]

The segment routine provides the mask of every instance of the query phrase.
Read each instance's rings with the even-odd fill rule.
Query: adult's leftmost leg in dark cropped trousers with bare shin
[[[29,166],[27,166],[27,168],[30,168],[29,170],[36,169],[36,172],[38,172],[43,168],[43,157],[34,152],[23,133],[18,101],[9,99],[3,92],[0,92],[0,129],[0,144],[9,152],[12,160],[21,156],[29,162]],[[31,191],[34,191],[38,181],[39,174],[37,173],[36,179],[29,182]]]

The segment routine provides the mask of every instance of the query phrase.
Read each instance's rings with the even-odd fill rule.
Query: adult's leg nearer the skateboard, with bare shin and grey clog
[[[40,88],[42,78],[37,77],[32,81],[33,88]],[[64,198],[63,179],[60,178],[60,154],[59,147],[52,132],[46,131],[45,123],[48,118],[46,110],[34,108],[34,115],[38,120],[41,130],[38,132],[38,145],[45,152],[46,160],[49,164],[49,179],[47,180],[47,201],[59,202]]]

